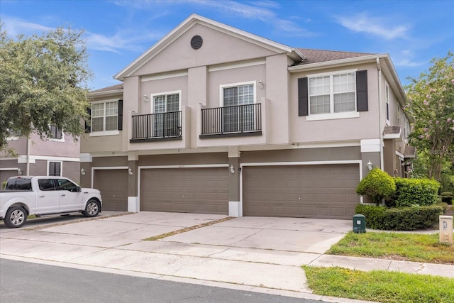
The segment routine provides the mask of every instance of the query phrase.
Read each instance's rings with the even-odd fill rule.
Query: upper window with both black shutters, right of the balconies
[[[298,115],[307,121],[359,117],[367,111],[367,70],[343,70],[298,79]]]

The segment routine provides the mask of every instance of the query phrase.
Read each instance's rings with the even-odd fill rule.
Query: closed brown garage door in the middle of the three
[[[141,170],[140,210],[228,214],[228,170]]]

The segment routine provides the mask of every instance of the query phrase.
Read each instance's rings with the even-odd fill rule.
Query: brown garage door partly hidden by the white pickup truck
[[[102,210],[128,211],[128,170],[95,170],[93,183],[101,191]]]

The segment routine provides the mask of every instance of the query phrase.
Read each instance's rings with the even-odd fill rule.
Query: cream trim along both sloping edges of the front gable
[[[114,78],[123,81],[124,77],[132,75],[133,72],[138,70],[140,67],[143,67],[143,65],[145,65],[146,62],[148,62],[151,58],[160,53],[160,51],[163,50],[167,45],[175,41],[177,38],[186,33],[190,28],[192,28],[196,24],[201,24],[209,28],[213,28],[216,31],[227,33],[228,35],[232,35],[236,38],[246,40],[255,45],[260,45],[263,48],[273,50],[277,53],[287,53],[287,55],[289,55],[289,57],[292,57],[292,60],[294,61],[299,62],[301,60],[304,60],[304,55],[297,48],[290,48],[287,45],[283,45],[272,40],[262,38],[252,33],[241,31],[238,28],[233,28],[226,24],[219,23],[217,21],[193,13],[186,20],[180,23],[179,26],[170,31],[170,33],[167,33],[167,35],[165,35],[161,40],[157,41],[155,45],[146,50],[145,53],[140,55],[137,59],[131,62],[131,64],[129,64],[123,70],[118,72],[114,76]]]

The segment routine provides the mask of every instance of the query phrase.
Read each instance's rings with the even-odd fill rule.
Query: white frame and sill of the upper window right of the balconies
[[[335,113],[334,111],[334,93],[333,93],[333,76],[335,75],[341,75],[341,74],[348,74],[353,72],[355,74],[355,110],[354,111],[343,111],[341,113]],[[349,119],[349,118],[359,118],[360,112],[358,111],[358,104],[356,101],[357,98],[357,92],[356,92],[356,72],[358,72],[358,69],[352,69],[352,70],[336,70],[336,72],[323,72],[320,74],[311,74],[311,75],[306,75],[308,79],[308,85],[307,85],[307,106],[308,106],[308,111],[309,114],[306,116],[306,121],[318,121],[318,120],[331,120],[331,119]],[[311,95],[309,94],[309,81],[311,78],[315,77],[326,77],[330,76],[330,113],[328,114],[311,114]]]

